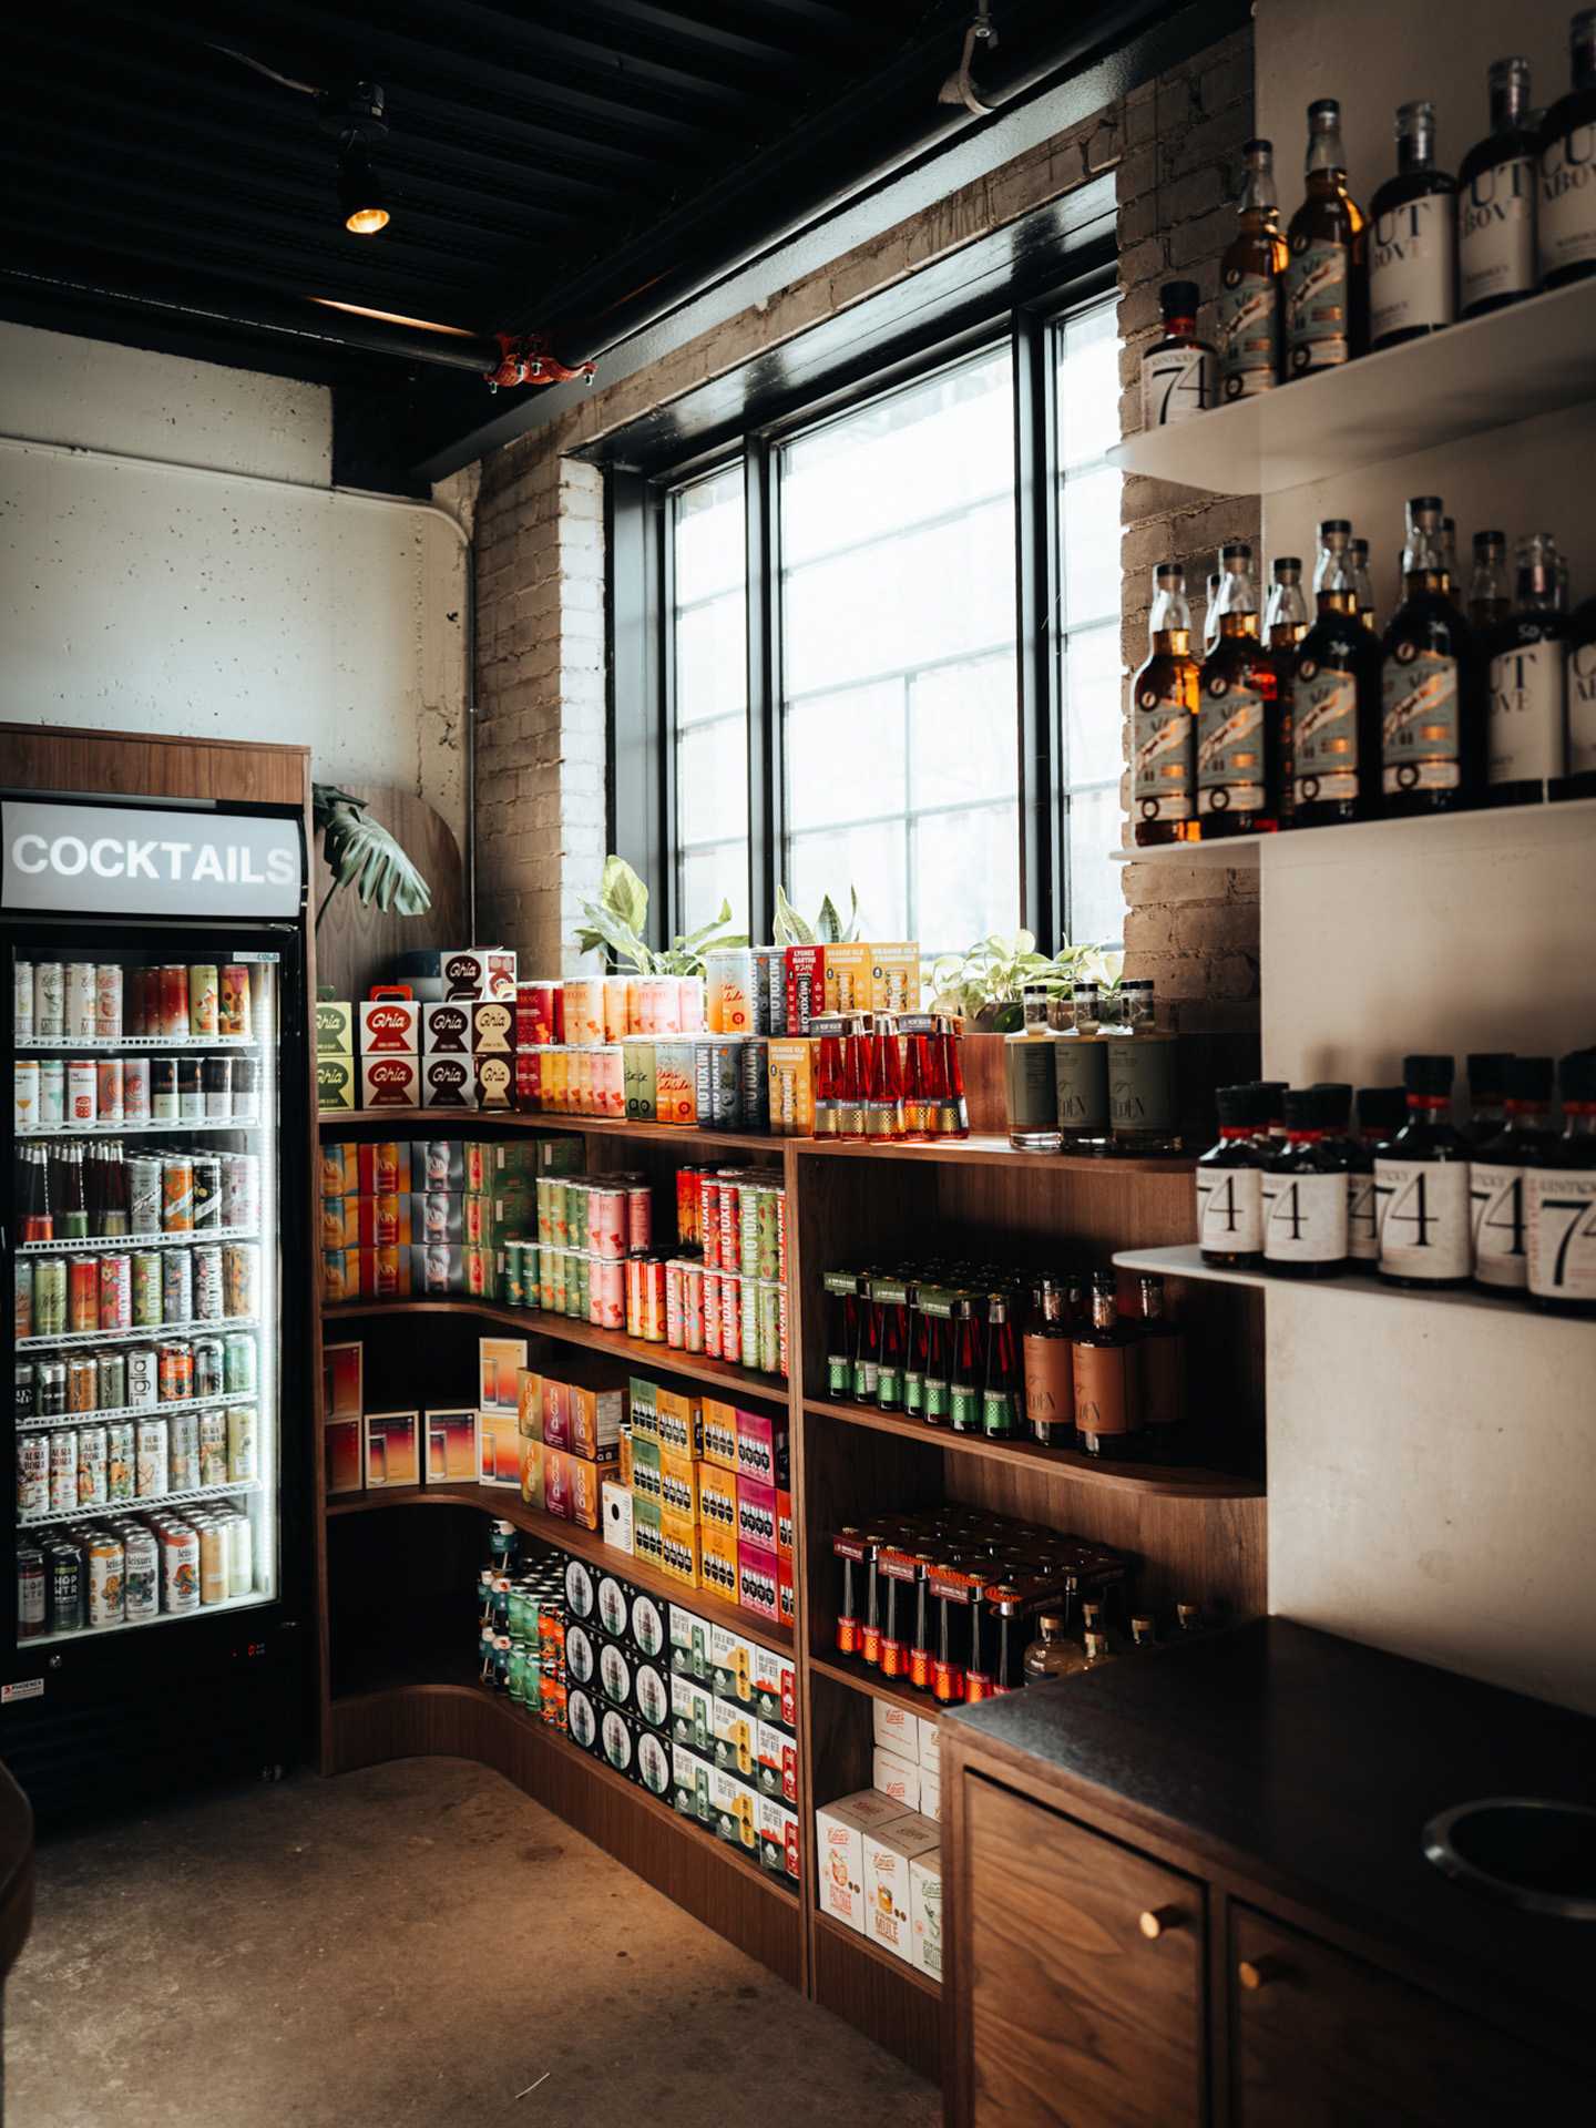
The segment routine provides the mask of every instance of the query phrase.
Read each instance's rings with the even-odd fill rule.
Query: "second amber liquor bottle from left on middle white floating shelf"
[[[1279,826],[1281,734],[1275,662],[1258,638],[1253,551],[1219,551],[1219,641],[1198,677],[1198,824],[1202,841]]]

